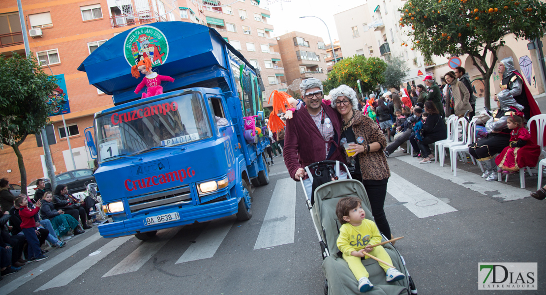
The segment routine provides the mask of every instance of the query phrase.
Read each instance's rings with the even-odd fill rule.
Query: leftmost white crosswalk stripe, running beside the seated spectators
[[[100,234],[97,232],[93,234],[91,237],[86,238],[85,240],[82,240],[80,243],[75,244],[74,246],[64,250],[61,254],[48,258],[47,260],[44,260],[44,264],[41,264],[39,267],[34,268],[30,270],[27,274],[24,276],[20,276],[19,278],[9,282],[8,284],[2,286],[0,288],[0,295],[9,294],[13,291],[15,291],[17,288],[22,286],[23,284],[26,284],[28,281],[34,279],[35,277],[39,276],[40,274],[43,274],[46,272],[46,270],[49,270],[50,268],[56,266],[57,264],[63,262],[68,257],[76,254],[76,252],[80,251],[81,249],[84,249],[88,245],[91,245],[91,243],[95,242],[96,240],[100,239]],[[30,275],[32,274],[32,275]]]

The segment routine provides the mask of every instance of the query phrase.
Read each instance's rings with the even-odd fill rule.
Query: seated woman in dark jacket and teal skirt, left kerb
[[[40,217],[44,220],[50,220],[57,236],[67,236],[68,232],[74,230],[74,234],[84,233],[78,228],[80,225],[78,220],[74,219],[70,214],[64,214],[62,209],[55,209],[52,203],[53,195],[50,191],[43,196],[40,208]],[[67,236],[65,239],[69,239]]]

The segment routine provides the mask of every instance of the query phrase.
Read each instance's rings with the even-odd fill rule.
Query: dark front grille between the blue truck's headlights
[[[132,213],[142,209],[165,205],[185,204],[191,202],[192,195],[188,185],[177,188],[140,195],[128,200]],[[188,201],[189,200],[189,201]]]

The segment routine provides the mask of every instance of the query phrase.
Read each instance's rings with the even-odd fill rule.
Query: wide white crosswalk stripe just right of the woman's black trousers
[[[418,218],[457,210],[392,171],[387,184],[387,192],[399,202],[406,202],[404,206]]]

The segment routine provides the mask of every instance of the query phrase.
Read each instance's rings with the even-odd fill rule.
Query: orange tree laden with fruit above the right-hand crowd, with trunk
[[[467,54],[482,74],[485,97],[503,38],[541,38],[546,4],[538,0],[411,0],[401,9],[400,26],[411,28],[413,49],[425,57]],[[485,57],[491,53],[491,63]],[[489,99],[485,106],[490,107]]]

